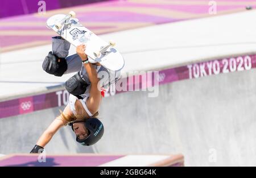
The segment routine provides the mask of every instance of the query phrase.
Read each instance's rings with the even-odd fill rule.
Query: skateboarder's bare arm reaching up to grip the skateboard
[[[80,56],[82,60],[88,59],[87,55],[85,54],[85,45],[79,45],[76,49],[77,54]],[[86,106],[90,110],[92,114],[95,114],[98,109],[100,108],[101,103],[101,91],[98,89],[98,82],[100,79],[97,77],[97,71],[93,68],[91,63],[84,64],[84,68],[88,73],[88,77],[91,83],[90,88],[90,97],[86,101]]]

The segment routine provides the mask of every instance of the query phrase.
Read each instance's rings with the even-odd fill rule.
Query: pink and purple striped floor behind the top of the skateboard
[[[94,3],[0,20],[1,52],[50,43],[55,33],[46,28],[46,20],[54,14],[73,10],[80,22],[96,34],[122,31],[154,24],[210,16],[208,0],[127,0]],[[217,14],[245,11],[256,6],[254,0],[217,0]]]

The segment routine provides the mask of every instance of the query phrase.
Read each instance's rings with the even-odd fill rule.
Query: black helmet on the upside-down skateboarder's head
[[[84,122],[86,129],[88,129],[88,131],[89,131],[89,135],[86,138],[84,138],[84,139],[76,138],[77,142],[79,142],[83,146],[90,146],[90,145],[98,142],[98,140],[101,139],[101,137],[104,133],[104,126],[99,119],[88,118],[85,121],[71,122],[71,123],[69,123],[69,126],[72,127],[72,130],[74,130],[73,123],[76,123],[76,122]]]

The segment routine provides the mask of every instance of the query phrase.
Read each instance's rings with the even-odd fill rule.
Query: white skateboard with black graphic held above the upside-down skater
[[[53,15],[47,19],[46,26],[75,47],[85,44],[85,53],[89,56],[91,63],[98,62],[111,71],[121,70],[125,61],[121,53],[114,48],[115,43],[105,42],[88,28],[82,26],[75,15],[73,11],[70,11],[68,15]]]

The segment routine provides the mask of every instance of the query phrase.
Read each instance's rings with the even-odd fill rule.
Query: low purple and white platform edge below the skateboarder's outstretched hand
[[[9,155],[0,158],[0,167],[96,167],[96,166],[183,166],[183,155]]]

